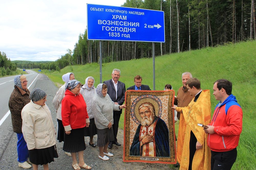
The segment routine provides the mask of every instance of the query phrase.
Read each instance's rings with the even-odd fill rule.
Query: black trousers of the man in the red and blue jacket
[[[211,170],[229,170],[237,159],[237,148],[226,152],[211,151]]]

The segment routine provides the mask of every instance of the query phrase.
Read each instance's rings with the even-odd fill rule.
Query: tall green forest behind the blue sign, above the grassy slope
[[[155,43],[156,56],[256,40],[254,0],[126,0],[122,6],[164,11],[165,43]],[[103,63],[151,56],[150,42],[102,41]],[[87,40],[85,29],[73,51],[29,68],[60,70],[93,62],[99,62],[99,41]]]

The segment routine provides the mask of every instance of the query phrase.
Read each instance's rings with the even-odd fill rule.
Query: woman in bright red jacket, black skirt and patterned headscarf
[[[83,151],[86,149],[84,142],[84,127],[90,125],[90,119],[86,110],[86,103],[80,94],[81,83],[77,80],[69,80],[66,85],[65,97],[61,101],[61,118],[66,134],[63,150],[70,152],[73,169],[91,169],[84,163]],[[79,163],[76,153],[78,152]]]

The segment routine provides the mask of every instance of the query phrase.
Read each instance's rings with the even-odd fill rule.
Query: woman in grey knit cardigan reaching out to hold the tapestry
[[[114,132],[112,128],[112,124],[114,123],[113,110],[125,108],[124,104],[121,106],[115,104],[107,92],[108,89],[106,84],[98,84],[96,94],[92,100],[92,109],[98,130],[97,145],[100,150],[98,157],[104,161],[109,160],[108,156],[113,156],[112,153],[107,151],[109,141],[114,140]]]

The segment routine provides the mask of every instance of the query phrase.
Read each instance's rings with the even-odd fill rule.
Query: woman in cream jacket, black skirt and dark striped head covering
[[[29,160],[33,169],[43,165],[48,170],[48,163],[59,157],[56,150],[56,131],[51,117],[51,111],[45,104],[46,93],[39,88],[30,92],[31,99],[22,109],[22,132],[27,142]]]

